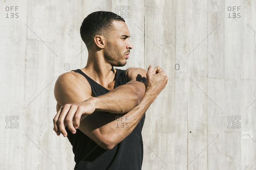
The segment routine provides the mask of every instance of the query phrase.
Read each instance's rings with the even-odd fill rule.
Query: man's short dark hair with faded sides
[[[114,29],[112,26],[113,20],[125,22],[121,16],[108,11],[96,11],[83,20],[80,35],[87,49],[91,48],[91,42],[95,35],[108,36],[107,33]]]

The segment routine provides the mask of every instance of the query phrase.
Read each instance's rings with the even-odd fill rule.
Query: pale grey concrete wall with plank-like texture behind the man
[[[169,76],[146,113],[143,170],[256,169],[254,0],[0,4],[1,170],[74,168],[69,141],[52,130],[54,84],[85,66],[80,26],[100,10],[125,16],[134,49],[123,69],[152,64]]]

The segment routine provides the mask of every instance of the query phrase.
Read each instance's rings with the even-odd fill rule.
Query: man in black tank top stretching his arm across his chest
[[[124,66],[132,49],[120,16],[91,13],[80,33],[88,49],[87,64],[56,81],[54,131],[72,144],[75,170],[141,170],[145,112],[168,77],[151,65],[148,71],[113,68]]]

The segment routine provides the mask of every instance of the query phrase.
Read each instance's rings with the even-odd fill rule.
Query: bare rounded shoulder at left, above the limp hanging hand
[[[70,71],[59,75],[54,96],[59,106],[82,102],[91,97],[91,86],[83,75]]]

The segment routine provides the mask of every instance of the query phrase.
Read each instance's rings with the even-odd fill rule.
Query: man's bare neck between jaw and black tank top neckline
[[[105,61],[103,55],[98,53],[89,53],[87,64],[85,68],[83,68],[83,71],[85,71],[91,79],[104,87],[107,87],[115,78],[115,69],[113,66]]]

